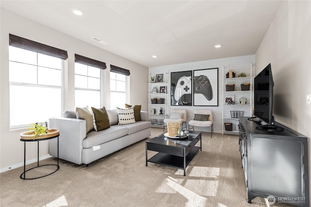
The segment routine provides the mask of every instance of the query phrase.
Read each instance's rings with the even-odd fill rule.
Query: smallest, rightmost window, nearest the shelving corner
[[[110,72],[110,109],[124,108],[126,103],[126,76]]]

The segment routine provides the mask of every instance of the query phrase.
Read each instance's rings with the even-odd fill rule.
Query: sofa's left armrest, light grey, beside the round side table
[[[82,141],[86,138],[86,121],[52,117],[50,128],[59,130],[59,158],[82,164]],[[50,155],[57,157],[57,139],[50,140]]]

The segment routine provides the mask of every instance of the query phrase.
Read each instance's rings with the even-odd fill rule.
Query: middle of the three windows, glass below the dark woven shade
[[[101,69],[74,63],[75,106],[100,108]]]

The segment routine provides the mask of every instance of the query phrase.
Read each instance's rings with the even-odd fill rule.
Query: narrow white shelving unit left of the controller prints
[[[167,83],[166,75],[163,74],[162,82],[151,82],[151,77],[156,77],[155,74],[148,75],[148,110],[149,120],[152,122],[152,127],[163,127],[163,120],[166,118],[167,111]],[[160,100],[158,100],[160,98]],[[153,99],[153,102],[152,102]],[[164,99],[164,102],[162,103]],[[161,103],[158,103],[161,102]],[[160,109],[162,108],[162,114]],[[155,112],[154,112],[155,110]],[[156,120],[156,121],[155,121]],[[158,121],[159,120],[159,121]],[[162,120],[162,122],[161,122]]]

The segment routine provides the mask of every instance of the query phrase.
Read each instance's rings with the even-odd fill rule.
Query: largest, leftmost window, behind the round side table
[[[9,46],[10,128],[60,115],[62,65],[60,58]]]

